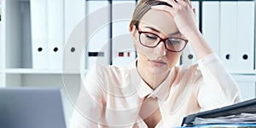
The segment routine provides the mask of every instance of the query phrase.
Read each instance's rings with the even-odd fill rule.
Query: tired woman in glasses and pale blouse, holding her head
[[[236,82],[196,27],[189,0],[141,0],[131,67],[97,66],[84,79],[71,127],[173,127],[183,117],[241,101]],[[175,67],[186,44],[197,64]]]

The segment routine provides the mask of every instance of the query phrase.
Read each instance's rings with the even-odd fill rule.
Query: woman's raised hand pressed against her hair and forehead
[[[172,15],[173,20],[176,23],[177,29],[185,38],[193,32],[199,32],[196,24],[195,9],[192,9],[192,5],[189,0],[160,0],[162,2],[169,3],[172,7],[166,5],[152,6],[152,9],[163,10]]]

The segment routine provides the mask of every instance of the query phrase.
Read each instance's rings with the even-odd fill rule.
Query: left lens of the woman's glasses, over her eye
[[[141,43],[148,47],[154,47],[160,40],[156,35],[151,33],[141,33],[140,39]]]

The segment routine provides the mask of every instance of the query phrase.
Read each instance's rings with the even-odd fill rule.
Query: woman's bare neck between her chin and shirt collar
[[[151,89],[156,89],[167,77],[169,72],[166,73],[149,73],[140,63],[137,61],[137,71],[141,78]]]

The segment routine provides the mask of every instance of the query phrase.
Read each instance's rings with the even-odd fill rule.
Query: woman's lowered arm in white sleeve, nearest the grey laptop
[[[70,119],[70,128],[90,128],[102,124],[103,96],[96,78],[98,78],[96,73],[90,72],[83,80],[73,116]]]

